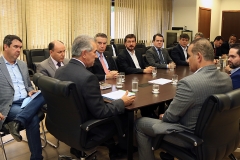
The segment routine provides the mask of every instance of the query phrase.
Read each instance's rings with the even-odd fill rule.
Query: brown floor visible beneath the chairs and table
[[[140,115],[136,115],[137,117],[140,117]],[[25,138],[25,131],[21,131],[21,135],[23,136],[23,138]],[[7,141],[9,139],[12,139],[11,135],[7,135],[3,137],[3,141]],[[47,133],[47,139],[50,140],[51,142],[56,144],[56,139],[50,134]],[[97,147],[97,159],[98,160],[108,160],[108,149],[106,147]],[[26,142],[22,141],[22,142],[16,142],[15,140],[11,141],[8,144],[5,144],[5,150],[6,150],[6,154],[7,154],[7,158],[8,160],[28,160],[30,157],[30,151],[28,148],[28,145]],[[161,150],[156,150],[155,153],[155,157],[156,160],[160,160],[159,158],[159,153],[161,152]],[[70,155],[70,148],[69,146],[67,146],[66,144],[60,142],[59,148],[55,149],[53,147],[51,147],[50,145],[47,145],[43,151],[42,151],[42,155],[44,156],[44,160],[57,160],[58,159],[58,155]],[[236,158],[240,159],[240,152],[236,151],[234,152],[234,155],[236,156]],[[138,159],[138,154],[134,153],[134,160]],[[3,159],[3,153],[2,150],[0,151],[0,160]],[[126,158],[121,159],[121,160],[126,160]],[[175,159],[176,160],[176,159]],[[224,160],[229,160],[229,158],[225,158]]]

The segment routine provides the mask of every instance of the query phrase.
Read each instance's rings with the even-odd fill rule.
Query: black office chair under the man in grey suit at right
[[[180,160],[219,160],[226,156],[236,160],[232,152],[239,144],[239,97],[240,89],[210,96],[202,106],[193,134],[159,135],[153,149],[162,148]],[[183,145],[166,141],[173,138]]]

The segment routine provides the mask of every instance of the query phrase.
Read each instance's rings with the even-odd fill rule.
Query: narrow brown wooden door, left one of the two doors
[[[204,37],[210,39],[211,9],[199,7],[198,32],[202,32]]]

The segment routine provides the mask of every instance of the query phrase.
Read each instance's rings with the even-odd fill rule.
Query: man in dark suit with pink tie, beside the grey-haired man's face
[[[104,54],[107,46],[107,35],[98,33],[94,39],[97,44],[97,57],[94,65],[89,67],[88,70],[95,74],[99,81],[116,78],[118,71],[114,60],[111,56]]]

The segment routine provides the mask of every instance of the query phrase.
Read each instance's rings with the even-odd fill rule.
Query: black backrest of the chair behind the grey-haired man
[[[45,121],[48,131],[67,145],[85,150],[82,147],[87,143],[87,135],[82,133],[80,125],[87,120],[87,111],[76,85],[41,73],[36,73],[33,81],[41,89],[48,106]]]

